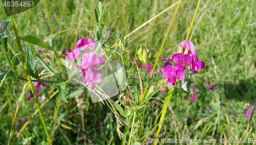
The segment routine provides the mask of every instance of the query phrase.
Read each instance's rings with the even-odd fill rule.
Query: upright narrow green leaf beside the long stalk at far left
[[[36,65],[36,62],[35,62],[35,59],[33,57],[31,50],[29,50],[27,53],[27,65],[29,68],[30,75],[36,79],[40,79],[38,76],[38,71],[36,70],[37,65]]]

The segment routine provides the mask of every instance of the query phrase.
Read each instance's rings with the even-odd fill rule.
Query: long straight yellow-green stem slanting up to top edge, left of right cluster
[[[153,75],[154,70],[155,70],[155,68],[156,68],[156,66],[157,66],[157,62],[158,62],[158,60],[159,60],[159,57],[160,57],[161,52],[162,52],[162,50],[163,50],[163,46],[164,46],[164,44],[165,44],[165,42],[166,42],[166,39],[167,39],[167,37],[168,37],[168,34],[169,34],[169,32],[170,32],[170,28],[172,28],[173,23],[174,23],[174,20],[175,20],[175,17],[176,17],[176,15],[177,15],[178,11],[179,11],[179,8],[180,8],[180,5],[181,5],[181,2],[182,2],[182,0],[180,1],[179,5],[178,5],[178,8],[177,8],[177,10],[176,10],[176,12],[175,12],[175,14],[174,14],[173,19],[172,19],[172,22],[170,22],[170,25],[169,25],[168,31],[167,31],[167,33],[166,33],[166,36],[165,36],[164,40],[163,40],[163,44],[162,44],[162,46],[161,46],[161,48],[160,48],[160,51],[159,51],[159,53],[158,53],[158,55],[157,55],[157,59],[156,59],[156,61],[155,61],[154,67],[153,67],[152,72],[151,72],[151,74],[150,74],[150,78],[149,78],[149,79],[148,79],[148,81],[147,81],[145,91],[144,91],[143,95],[141,96],[141,98],[140,98],[140,100],[139,100],[140,102],[142,102],[142,100],[144,100],[144,98],[145,98],[145,95],[146,95],[146,92],[147,92],[148,85],[150,84],[150,81],[151,81],[152,75]]]

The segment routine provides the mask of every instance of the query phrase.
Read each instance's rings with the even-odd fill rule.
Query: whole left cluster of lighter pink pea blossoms
[[[92,39],[80,39],[76,43],[74,52],[69,49],[66,54],[67,60],[76,60],[80,57],[80,50],[85,51],[82,55],[82,65],[77,65],[76,67],[82,72],[84,77],[83,85],[88,85],[90,90],[94,90],[95,84],[99,83],[101,80],[101,73],[95,70],[95,67],[105,64],[105,56],[97,55],[93,51],[95,49],[95,42]]]

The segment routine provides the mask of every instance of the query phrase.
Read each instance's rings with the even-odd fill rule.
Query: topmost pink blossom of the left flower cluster
[[[91,51],[95,49],[95,42],[92,39],[82,38],[77,41],[76,46],[83,51]]]

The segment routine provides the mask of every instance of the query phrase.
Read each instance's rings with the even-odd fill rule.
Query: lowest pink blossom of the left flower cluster
[[[93,68],[93,67],[91,67]],[[101,73],[97,70],[88,69],[86,77],[84,77],[83,85],[89,85],[90,90],[94,90],[95,84],[101,80]]]

